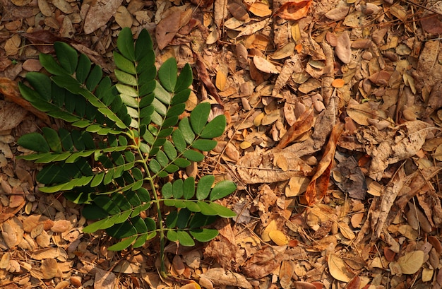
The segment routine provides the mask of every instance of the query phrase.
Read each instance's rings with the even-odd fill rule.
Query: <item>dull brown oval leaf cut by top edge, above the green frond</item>
[[[92,2],[95,3],[95,6],[90,7],[88,15],[86,15],[83,27],[85,34],[90,34],[106,25],[109,19],[117,13],[122,2],[123,0],[108,0],[104,5],[99,1]]]

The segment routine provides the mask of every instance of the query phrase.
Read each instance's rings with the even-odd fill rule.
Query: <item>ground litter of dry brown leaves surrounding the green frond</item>
[[[441,288],[441,1],[0,0],[2,288]],[[157,64],[193,67],[191,112],[227,130],[208,161],[238,189],[208,244],[107,250],[81,207],[42,194],[16,156],[60,127],[17,90],[38,54],[67,42],[113,76],[121,28],[143,28]],[[149,212],[147,212],[149,213]],[[153,216],[155,217],[155,216]]]

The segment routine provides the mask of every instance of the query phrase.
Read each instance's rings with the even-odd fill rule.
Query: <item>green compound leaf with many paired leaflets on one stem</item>
[[[83,216],[97,222],[83,232],[106,230],[121,239],[109,249],[141,247],[159,234],[165,271],[166,237],[184,246],[207,242],[218,232],[205,226],[218,216],[235,216],[214,202],[235,191],[233,182],[215,184],[213,175],[165,180],[201,162],[202,152],[216,146],[213,138],[222,135],[226,119],[220,115],[208,122],[208,103],[179,119],[191,93],[191,67],[186,64],[178,75],[176,60],[169,59],[157,71],[146,30],[134,43],[131,30],[124,28],[117,47],[117,84],[64,42],[54,43],[56,59],[40,54],[51,76],[28,73],[30,86],[19,83],[20,93],[69,125],[22,136],[18,144],[35,153],[20,158],[44,164],[37,175],[45,184],[41,191],[63,191],[67,199],[85,204]],[[169,207],[165,218],[160,203]],[[142,217],[148,209],[155,213]]]

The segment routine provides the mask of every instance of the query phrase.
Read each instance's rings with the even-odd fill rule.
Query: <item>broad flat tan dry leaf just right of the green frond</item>
[[[274,165],[280,155],[287,159],[287,170],[284,172]],[[254,151],[240,158],[237,165],[232,165],[237,170],[241,180],[246,184],[273,183],[290,179],[294,176],[306,176],[311,172],[311,167],[301,160],[296,153],[290,153],[274,148],[268,152]]]

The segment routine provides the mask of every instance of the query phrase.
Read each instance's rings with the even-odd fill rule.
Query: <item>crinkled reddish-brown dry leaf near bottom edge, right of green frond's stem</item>
[[[264,247],[246,261],[243,272],[250,278],[263,278],[280,266],[287,246]]]

